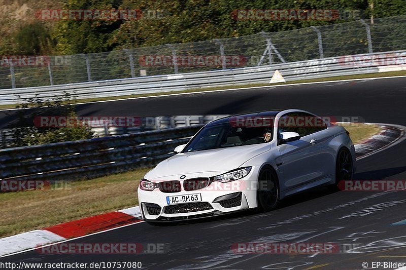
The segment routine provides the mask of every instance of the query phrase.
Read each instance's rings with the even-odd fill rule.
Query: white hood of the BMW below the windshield
[[[239,168],[243,163],[269,149],[270,144],[264,143],[178,153],[160,162],[145,178],[173,180],[175,176],[179,179],[179,175],[186,175],[186,178],[215,176],[218,172]],[[203,174],[200,175],[201,173]]]

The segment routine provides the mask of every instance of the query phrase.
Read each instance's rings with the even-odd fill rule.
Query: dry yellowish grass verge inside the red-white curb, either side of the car
[[[378,133],[376,125],[343,124],[354,143]],[[138,205],[137,187],[150,168],[70,183],[66,189],[0,193],[0,238]]]

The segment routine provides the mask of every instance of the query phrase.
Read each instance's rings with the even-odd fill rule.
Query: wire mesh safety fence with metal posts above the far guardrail
[[[366,20],[365,24],[358,20],[317,29],[307,27],[105,53],[50,56],[50,65],[10,68],[2,61],[0,89],[10,89],[14,82],[20,88],[269,65],[368,53],[370,46],[373,52],[405,49],[406,15]]]

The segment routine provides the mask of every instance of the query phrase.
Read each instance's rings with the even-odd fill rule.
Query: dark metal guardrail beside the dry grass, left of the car
[[[0,150],[0,179],[74,180],[152,166],[203,125]]]

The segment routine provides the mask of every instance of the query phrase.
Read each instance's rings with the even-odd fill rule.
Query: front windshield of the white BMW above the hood
[[[270,140],[272,140],[270,126],[235,127],[230,123],[222,123],[202,129],[190,141],[184,152],[266,143]]]

